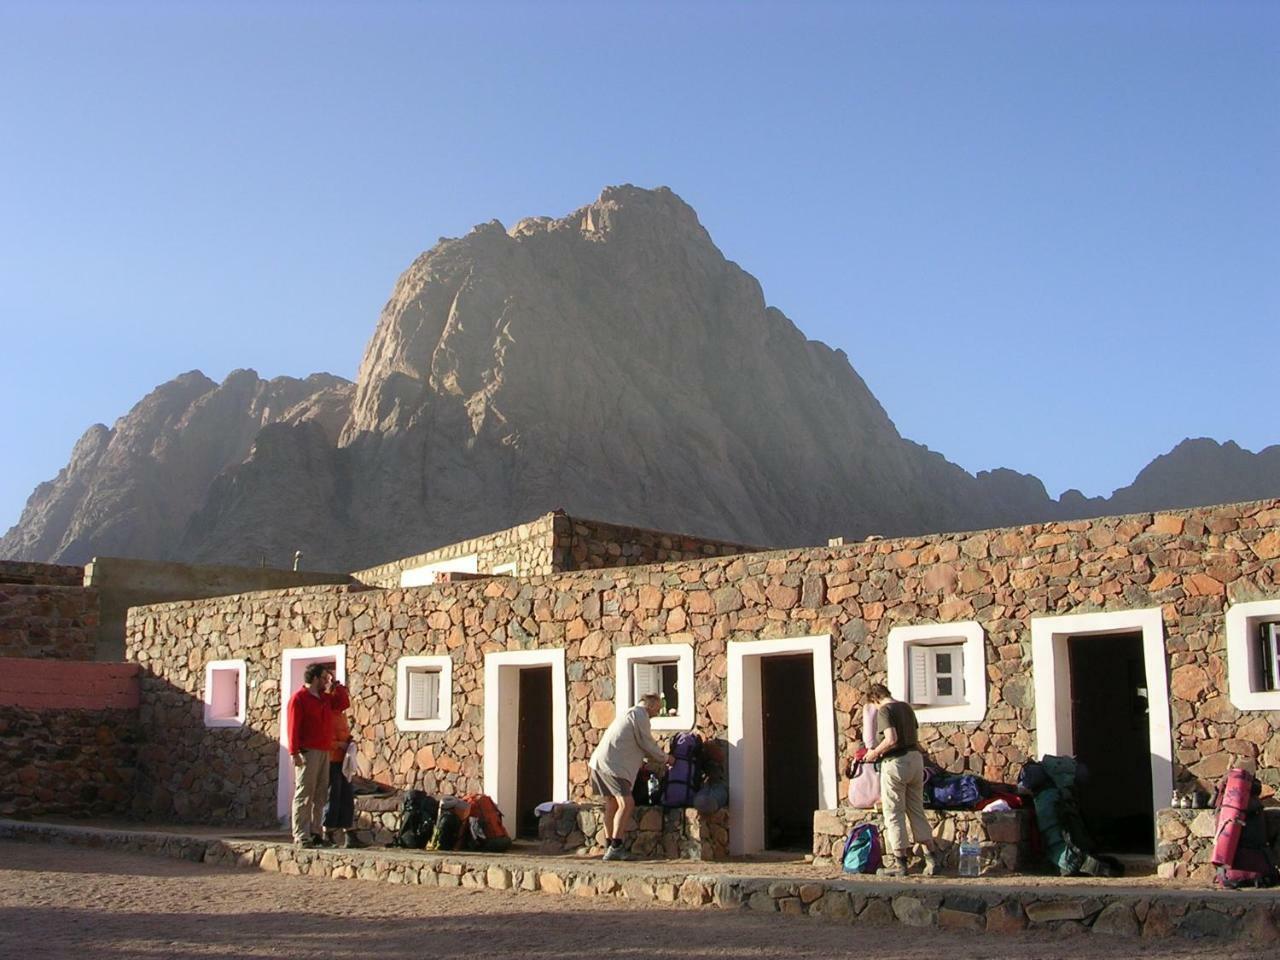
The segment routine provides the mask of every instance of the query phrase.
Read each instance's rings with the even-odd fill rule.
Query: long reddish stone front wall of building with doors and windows
[[[860,690],[884,678],[888,630],[964,620],[987,636],[987,716],[925,727],[923,741],[948,769],[1006,781],[1034,750],[1032,617],[1144,607],[1164,612],[1179,786],[1207,787],[1245,758],[1275,788],[1280,714],[1242,714],[1228,700],[1222,616],[1229,600],[1270,596],[1280,596],[1275,500],[532,580],[163,604],[129,621],[128,657],[150,673],[141,765],[155,794],[142,806],[174,815],[180,792],[182,815],[209,817],[210,797],[229,796],[241,815],[274,814],[287,646],[346,644],[365,771],[438,794],[481,788],[484,654],[563,648],[571,799],[584,799],[586,759],[613,717],[618,646],[692,644],[699,730],[723,737],[730,643],[829,634],[837,748],[849,756]],[[396,660],[420,653],[453,658],[454,723],[442,733],[394,726]],[[230,657],[250,660],[248,724],[205,731],[192,708],[204,663]]]

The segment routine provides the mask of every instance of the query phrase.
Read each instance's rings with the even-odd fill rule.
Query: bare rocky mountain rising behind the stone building
[[[899,435],[668,189],[440,241],[355,384],[184,374],[92,428],[0,556],[352,570],[563,507],[756,543],[975,529],[1280,493],[1280,448],[1194,440],[1110,500],[973,476]]]

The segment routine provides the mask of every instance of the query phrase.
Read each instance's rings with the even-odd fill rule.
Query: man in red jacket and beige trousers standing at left
[[[289,699],[293,841],[298,846],[332,846],[320,829],[329,792],[333,710],[346,710],[351,698],[347,689],[334,681],[330,664],[308,664],[302,681],[303,686]]]

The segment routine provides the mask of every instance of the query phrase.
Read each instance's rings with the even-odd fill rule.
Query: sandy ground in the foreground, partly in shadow
[[[1082,938],[1085,938],[1082,941]],[[1211,948],[1216,960],[1257,947]],[[232,870],[0,842],[0,957],[1203,957],[1203,945],[986,936]]]

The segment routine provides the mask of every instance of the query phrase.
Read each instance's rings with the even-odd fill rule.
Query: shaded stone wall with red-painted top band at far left
[[[138,668],[5,662],[0,817],[113,817],[131,809]]]

